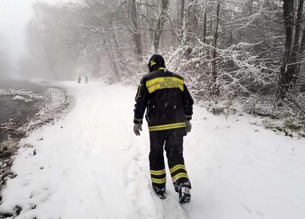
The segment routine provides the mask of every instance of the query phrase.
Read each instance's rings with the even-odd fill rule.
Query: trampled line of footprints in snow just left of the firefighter
[[[113,124],[120,124],[121,137],[125,139],[120,145],[120,153],[127,154],[124,166],[120,170],[124,175],[124,190],[135,211],[136,218],[159,218],[158,210],[151,203],[152,197],[148,191],[148,178],[141,166],[142,160],[145,160],[143,151],[139,150],[138,144],[134,143],[132,132],[133,123],[128,118],[133,118],[132,105],[125,104],[124,97],[121,95],[126,92],[123,87],[116,87],[115,92],[111,89],[110,108],[113,114],[116,115],[112,119]],[[120,108],[117,108],[120,106]],[[119,141],[120,142],[120,141]],[[145,147],[145,145],[142,145]],[[147,147],[147,146],[146,146]],[[146,165],[145,165],[146,166]]]

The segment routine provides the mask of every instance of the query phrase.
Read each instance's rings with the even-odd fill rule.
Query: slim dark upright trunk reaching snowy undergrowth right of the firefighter
[[[217,21],[216,21],[216,28],[215,28],[215,34],[214,34],[214,41],[213,41],[213,61],[212,61],[212,69],[211,69],[211,73],[212,73],[212,97],[218,97],[219,96],[219,89],[218,86],[216,84],[217,81],[217,38],[218,38],[218,25],[219,25],[219,11],[220,11],[220,0],[218,0],[217,3],[217,12],[216,12],[216,16],[217,16]]]

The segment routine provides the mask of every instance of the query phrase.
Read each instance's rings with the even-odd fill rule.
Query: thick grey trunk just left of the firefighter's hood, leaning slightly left
[[[135,44],[135,50],[137,53],[138,61],[143,61],[143,51],[142,51],[142,42],[141,42],[141,33],[138,25],[138,13],[137,13],[137,4],[136,0],[131,0],[131,23],[133,26],[132,39]]]

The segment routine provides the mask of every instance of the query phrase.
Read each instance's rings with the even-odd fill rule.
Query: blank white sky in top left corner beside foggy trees
[[[33,2],[36,0],[0,0],[0,50],[6,51],[13,64],[17,64],[26,48],[24,30],[32,16]]]

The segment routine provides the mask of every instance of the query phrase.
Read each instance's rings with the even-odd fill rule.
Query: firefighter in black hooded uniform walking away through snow
[[[167,71],[161,55],[153,55],[148,63],[149,72],[138,87],[135,97],[134,132],[142,131],[143,116],[149,129],[149,165],[152,187],[161,199],[166,198],[163,146],[170,175],[179,201],[191,199],[189,181],[183,159],[183,136],[191,131],[193,100],[183,78]]]

